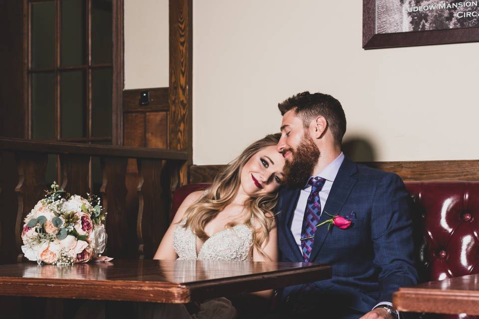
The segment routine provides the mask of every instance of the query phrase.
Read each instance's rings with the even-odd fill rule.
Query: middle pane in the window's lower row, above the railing
[[[61,137],[86,137],[85,71],[60,74]]]

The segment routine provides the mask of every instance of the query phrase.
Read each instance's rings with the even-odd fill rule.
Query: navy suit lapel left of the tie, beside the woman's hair
[[[286,241],[289,245],[289,248],[294,254],[296,260],[303,260],[303,255],[301,254],[296,241],[294,240],[293,234],[291,233],[291,221],[294,215],[294,209],[296,208],[296,203],[299,198],[299,189],[285,189],[281,198],[281,211],[279,212],[280,216],[279,226],[282,228],[282,233],[286,238]]]

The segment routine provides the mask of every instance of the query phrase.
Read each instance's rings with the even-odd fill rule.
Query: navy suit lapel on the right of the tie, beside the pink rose
[[[356,183],[356,178],[352,177],[357,171],[356,163],[344,158],[341,167],[339,168],[338,174],[334,179],[331,190],[329,191],[328,199],[324,205],[321,216],[319,218],[319,223],[322,223],[325,220],[330,219],[325,212],[328,212],[330,215],[337,215],[341,211],[341,208],[344,206],[344,203],[349,197],[349,193]],[[331,226],[334,227],[334,226]],[[324,224],[319,226],[314,233],[314,243],[313,249],[311,251],[310,261],[314,261],[317,254],[321,250],[321,247],[324,244],[324,240],[328,235],[328,225]],[[318,261],[320,262],[320,261]]]

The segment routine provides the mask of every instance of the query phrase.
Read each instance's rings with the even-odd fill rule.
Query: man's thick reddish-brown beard
[[[288,151],[291,152],[292,157],[291,161],[286,160],[284,164],[284,174],[286,175],[284,183],[291,187],[303,188],[308,182],[321,152],[306,132],[296,151],[291,149]]]

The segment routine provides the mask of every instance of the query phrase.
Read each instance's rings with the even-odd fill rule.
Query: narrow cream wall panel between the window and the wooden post
[[[125,0],[125,89],[167,87],[168,0]]]

